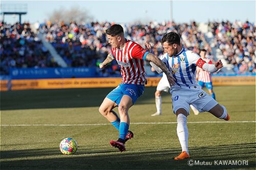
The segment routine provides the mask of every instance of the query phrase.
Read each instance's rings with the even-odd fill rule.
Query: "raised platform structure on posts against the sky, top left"
[[[3,22],[5,15],[19,15],[19,23],[22,23],[22,15],[27,14],[27,4],[1,4]]]

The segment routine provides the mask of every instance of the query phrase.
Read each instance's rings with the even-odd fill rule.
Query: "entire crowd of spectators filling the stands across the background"
[[[78,24],[71,21],[46,22],[40,25],[39,31],[46,35],[57,53],[70,67],[94,67],[101,63],[111,51],[104,30],[112,25],[111,22],[90,22]],[[214,35],[214,43],[224,55],[228,63],[233,64],[237,74],[255,72],[255,26],[251,22],[233,23],[209,22],[209,31]],[[125,37],[138,42],[150,42],[152,52],[162,54],[162,36],[170,31],[177,32],[185,48],[199,53],[200,49],[207,50],[207,57],[212,56],[210,44],[204,34],[198,29],[198,23],[150,22],[129,23],[123,25]],[[42,45],[36,34],[31,31],[30,23],[1,23],[1,74],[8,74],[9,67],[57,67],[58,64]],[[146,63],[148,64],[148,63]],[[117,63],[99,71],[100,76],[120,75]]]

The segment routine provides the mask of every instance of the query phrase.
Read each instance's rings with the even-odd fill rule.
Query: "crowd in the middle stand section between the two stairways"
[[[91,22],[86,25],[78,25],[76,22],[70,22],[68,25],[63,22],[47,22],[41,25],[40,32],[46,34],[47,40],[52,43],[69,66],[95,66],[101,63],[111,51],[111,45],[104,33],[104,30],[110,26],[110,22]],[[123,27],[127,39],[138,42],[142,46],[144,42],[151,42],[153,53],[157,56],[162,53],[162,36],[170,31],[179,33],[182,44],[189,50],[199,53],[200,48],[206,48],[211,55],[211,47],[205,40],[204,34],[198,31],[196,22],[181,25],[175,22],[150,22],[148,25],[134,23]],[[116,62],[106,69],[108,71],[102,70],[102,76],[120,74]]]

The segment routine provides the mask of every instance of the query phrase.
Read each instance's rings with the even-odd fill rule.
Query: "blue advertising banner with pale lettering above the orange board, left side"
[[[11,79],[55,79],[97,77],[96,67],[10,68]]]

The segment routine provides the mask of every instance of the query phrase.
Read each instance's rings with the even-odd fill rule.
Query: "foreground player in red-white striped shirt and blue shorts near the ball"
[[[144,49],[136,42],[125,39],[122,26],[111,26],[106,30],[106,36],[112,45],[112,50],[99,67],[103,68],[115,59],[121,67],[122,82],[106,96],[99,107],[99,112],[119,131],[118,140],[112,140],[110,144],[122,152],[125,151],[124,143],[133,137],[133,132],[129,131],[128,110],[142,95],[146,84],[144,60],[159,66],[166,74],[170,86],[175,84],[175,79],[165,64],[157,56],[148,52],[150,49],[147,43]],[[120,118],[113,111],[117,106]]]

